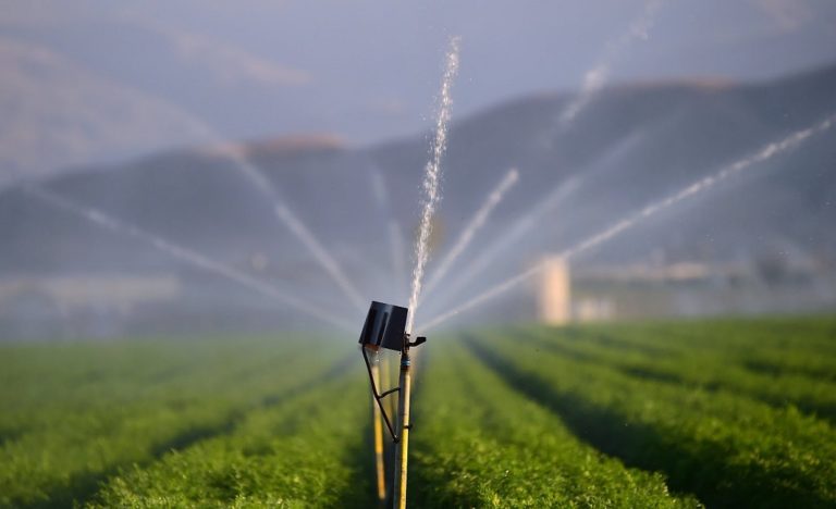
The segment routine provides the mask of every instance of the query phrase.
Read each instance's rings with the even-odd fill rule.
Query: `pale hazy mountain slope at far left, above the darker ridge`
[[[200,123],[177,108],[42,47],[0,38],[0,186],[207,139]]]

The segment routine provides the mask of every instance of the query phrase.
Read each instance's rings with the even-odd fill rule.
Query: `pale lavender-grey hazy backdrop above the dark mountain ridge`
[[[648,10],[652,15],[648,15]],[[770,79],[836,62],[832,0],[0,1],[0,182],[225,139],[427,129],[606,84]]]

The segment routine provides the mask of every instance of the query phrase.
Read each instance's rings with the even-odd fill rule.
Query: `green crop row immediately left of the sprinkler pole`
[[[96,507],[369,507],[369,399],[356,370],[222,436],[125,470]]]

